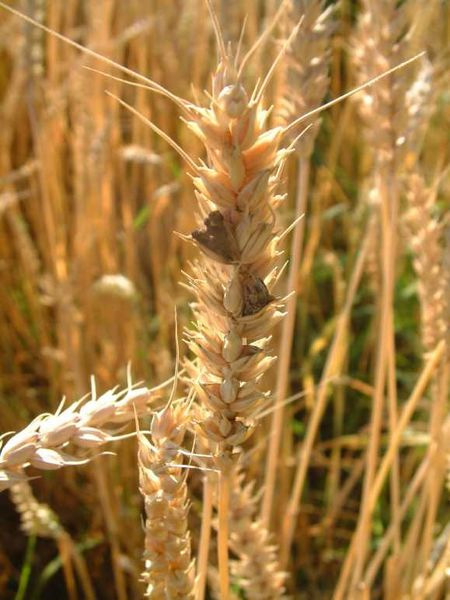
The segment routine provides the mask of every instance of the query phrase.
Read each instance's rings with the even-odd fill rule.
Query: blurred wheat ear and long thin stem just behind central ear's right
[[[282,90],[281,117],[286,123],[295,119],[296,115],[307,113],[319,106],[329,85],[328,67],[330,60],[329,42],[333,29],[331,20],[332,8],[324,8],[320,0],[301,2],[294,6],[289,4],[287,21],[291,30],[303,15],[301,35],[297,36],[287,50],[286,82]],[[297,142],[298,186],[296,198],[296,215],[306,210],[309,183],[309,159],[314,140],[318,131],[317,123]],[[304,220],[296,225],[290,249],[290,266],[287,290],[297,291],[298,271],[301,262],[301,250],[304,232]],[[287,317],[283,322],[279,362],[277,369],[276,405],[271,424],[271,438],[267,452],[267,462],[264,479],[264,495],[261,506],[263,522],[270,522],[273,494],[275,490],[278,453],[283,427],[283,400],[286,396],[289,378],[289,365],[292,339],[295,324],[296,293],[287,303]]]

